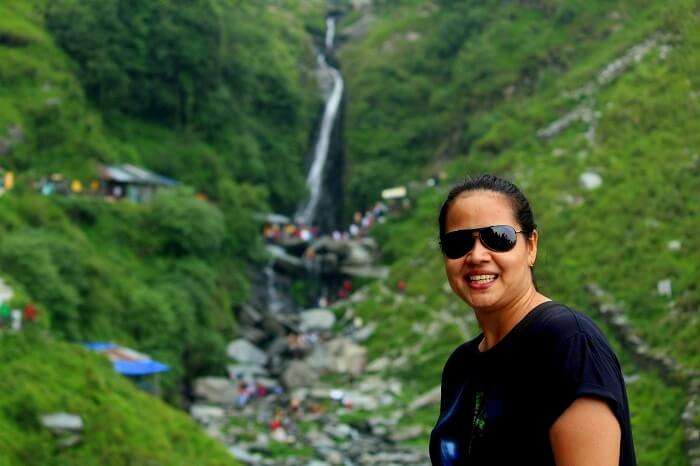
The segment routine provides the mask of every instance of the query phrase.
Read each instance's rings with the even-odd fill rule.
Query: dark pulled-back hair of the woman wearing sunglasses
[[[438,217],[440,239],[445,236],[445,222],[447,221],[447,212],[450,210],[450,206],[460,194],[468,191],[493,191],[503,194],[510,201],[510,205],[513,209],[513,216],[528,238],[532,236],[532,232],[537,228],[530,202],[517,186],[495,175],[477,175],[465,179],[462,183],[452,188],[449,194],[447,194],[445,202],[442,203],[442,207],[440,208],[440,216]],[[533,267],[530,267],[530,269],[532,270]],[[534,271],[532,282],[535,283]],[[535,283],[535,288],[537,288],[537,283]]]

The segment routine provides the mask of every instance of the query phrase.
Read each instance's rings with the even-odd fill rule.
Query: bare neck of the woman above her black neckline
[[[493,348],[526,315],[540,304],[551,301],[548,297],[531,288],[508,307],[497,311],[475,311],[484,338],[479,343],[479,351]]]

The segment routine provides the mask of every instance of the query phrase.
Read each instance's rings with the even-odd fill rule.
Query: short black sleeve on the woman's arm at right
[[[626,417],[626,396],[617,357],[602,336],[576,333],[555,349],[553,375],[554,403],[548,413],[551,425],[582,396],[599,398],[610,406],[622,425]]]

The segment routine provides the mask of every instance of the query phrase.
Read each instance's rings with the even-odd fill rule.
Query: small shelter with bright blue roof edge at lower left
[[[146,354],[114,343],[85,343],[85,347],[107,356],[114,370],[134,380],[139,388],[160,395],[160,374],[170,370],[167,364],[154,361]]]

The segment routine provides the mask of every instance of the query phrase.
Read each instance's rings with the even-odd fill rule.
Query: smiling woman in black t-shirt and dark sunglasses
[[[447,279],[482,333],[443,369],[432,464],[636,464],[617,358],[588,317],[537,290],[525,196],[495,176],[468,179],[439,225]]]

